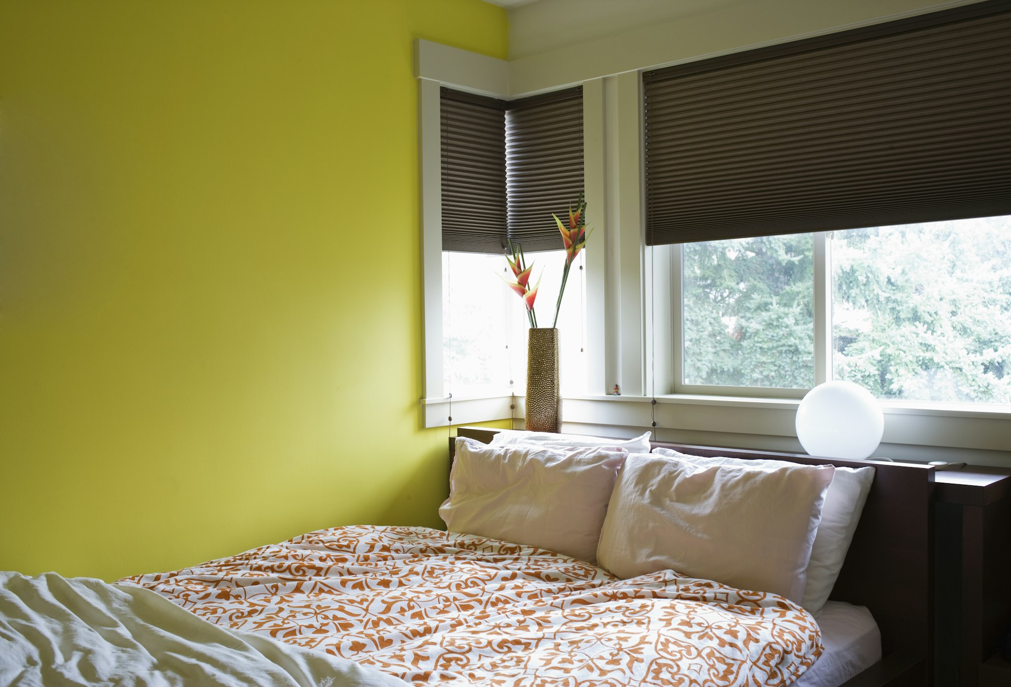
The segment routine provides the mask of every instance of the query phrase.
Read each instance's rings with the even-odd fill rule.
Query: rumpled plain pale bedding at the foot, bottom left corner
[[[379,671],[214,625],[149,589],[0,573],[0,686],[404,687]]]

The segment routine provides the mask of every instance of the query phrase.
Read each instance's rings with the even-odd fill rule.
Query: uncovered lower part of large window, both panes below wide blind
[[[839,379],[883,400],[1011,405],[1011,216],[684,243],[674,255],[677,392],[799,397]]]

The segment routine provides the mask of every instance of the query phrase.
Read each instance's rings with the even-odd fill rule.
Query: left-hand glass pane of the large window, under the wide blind
[[[683,383],[814,386],[809,233],[685,243]]]

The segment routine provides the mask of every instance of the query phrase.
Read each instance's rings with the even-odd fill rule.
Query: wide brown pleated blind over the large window
[[[1011,214],[1011,3],[644,75],[647,242]]]

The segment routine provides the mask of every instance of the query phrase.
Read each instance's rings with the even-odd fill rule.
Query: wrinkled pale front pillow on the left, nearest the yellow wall
[[[457,437],[450,495],[439,514],[451,532],[595,564],[608,501],[626,456],[621,450],[492,447]]]

